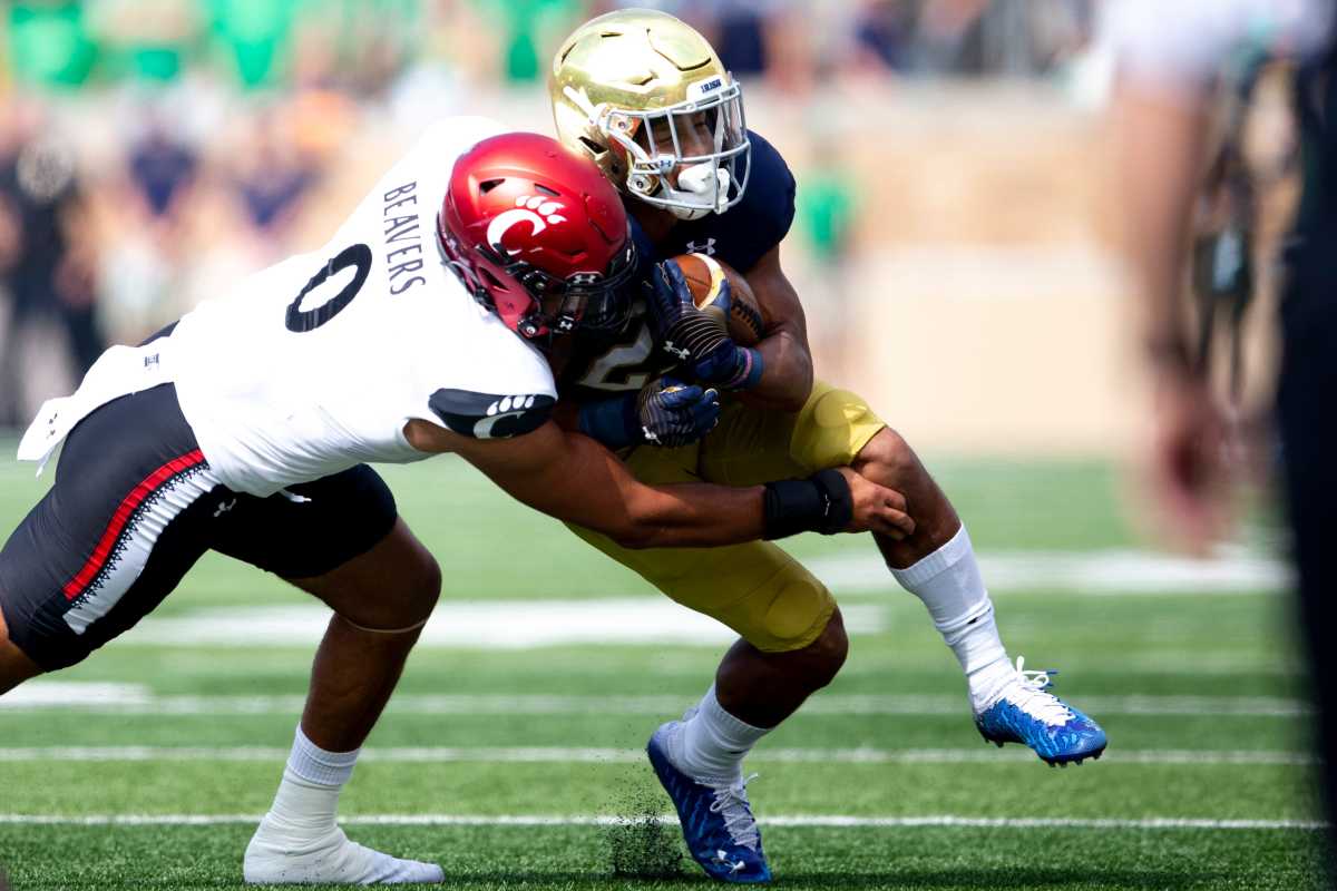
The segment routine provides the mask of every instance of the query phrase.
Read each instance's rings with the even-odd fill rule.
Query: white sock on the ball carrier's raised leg
[[[901,588],[924,601],[933,625],[961,664],[976,711],[995,699],[1016,673],[993,621],[971,536],[963,525],[945,545],[906,569],[892,569]]]

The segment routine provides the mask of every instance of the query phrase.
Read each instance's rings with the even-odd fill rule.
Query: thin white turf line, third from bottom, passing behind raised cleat
[[[108,715],[293,715],[303,696],[156,696],[142,684],[29,681],[0,697],[0,712],[70,709]],[[670,715],[687,696],[572,696],[544,693],[400,695],[390,711],[412,715]],[[1082,696],[1094,715],[1298,717],[1309,703],[1277,696]],[[818,695],[801,715],[964,715],[965,696]]]

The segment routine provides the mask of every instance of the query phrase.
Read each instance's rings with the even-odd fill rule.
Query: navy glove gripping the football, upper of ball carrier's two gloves
[[[721,287],[723,293],[715,305],[729,318],[729,282]],[[734,343],[713,318],[697,309],[678,263],[658,263],[644,290],[655,339],[681,367],[698,381],[725,390],[757,385],[762,374],[761,353]]]

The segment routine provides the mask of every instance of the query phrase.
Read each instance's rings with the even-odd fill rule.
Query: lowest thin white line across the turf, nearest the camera
[[[59,814],[0,814],[0,824],[19,826],[227,826],[259,823],[259,814],[88,814],[64,816]],[[659,815],[659,822],[674,824],[678,818]],[[619,826],[619,816],[547,816],[500,815],[472,816],[461,814],[366,814],[341,816],[344,826]],[[964,827],[1001,830],[1325,830],[1321,820],[1215,820],[1209,818],[1148,816],[1136,819],[1115,818],[1047,818],[1047,816],[842,816],[842,815],[783,815],[758,818],[762,826],[822,827],[822,828],[925,828]]]

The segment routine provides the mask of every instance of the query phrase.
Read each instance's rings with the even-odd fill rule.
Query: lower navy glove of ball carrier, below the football
[[[719,422],[719,393],[673,378],[651,381],[639,393],[580,406],[580,433],[610,449],[642,445],[682,446]]]

